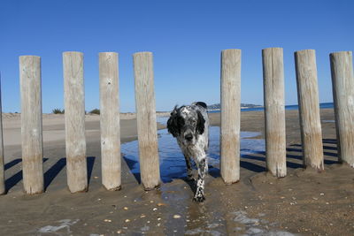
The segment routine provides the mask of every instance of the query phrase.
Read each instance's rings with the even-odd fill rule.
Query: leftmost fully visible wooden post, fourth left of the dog
[[[23,186],[26,194],[44,191],[41,57],[19,57]]]

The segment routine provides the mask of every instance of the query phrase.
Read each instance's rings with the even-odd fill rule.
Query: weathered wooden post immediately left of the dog
[[[138,52],[133,59],[140,171],[142,186],[150,190],[160,184],[152,53]]]

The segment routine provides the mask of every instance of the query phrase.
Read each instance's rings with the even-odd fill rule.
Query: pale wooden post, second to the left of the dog
[[[99,54],[102,184],[120,189],[118,53]]]

